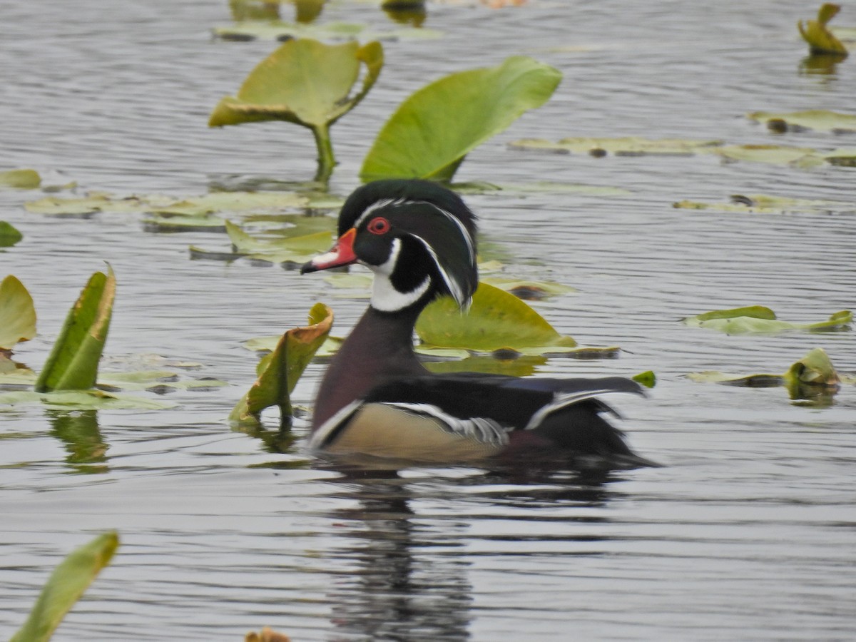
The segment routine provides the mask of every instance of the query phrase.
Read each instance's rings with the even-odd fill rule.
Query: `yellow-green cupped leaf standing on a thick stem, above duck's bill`
[[[352,94],[362,66],[362,87]],[[312,39],[289,40],[259,62],[236,97],[217,104],[208,125],[284,121],[309,128],[318,148],[315,180],[326,182],[336,165],[330,126],[360,104],[381,68],[383,47],[376,41],[360,46],[353,41],[324,45]]]

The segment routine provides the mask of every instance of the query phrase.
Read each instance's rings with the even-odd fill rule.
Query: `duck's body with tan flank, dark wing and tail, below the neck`
[[[401,377],[342,408],[312,434],[310,446],[446,462],[484,459],[514,443],[629,454],[621,432],[598,416],[611,409],[597,395],[609,392],[641,388],[621,377]]]

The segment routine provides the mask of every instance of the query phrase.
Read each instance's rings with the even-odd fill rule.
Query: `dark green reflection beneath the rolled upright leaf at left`
[[[46,410],[51,435],[68,451],[65,461],[74,473],[107,473],[107,449],[101,437],[97,410]]]

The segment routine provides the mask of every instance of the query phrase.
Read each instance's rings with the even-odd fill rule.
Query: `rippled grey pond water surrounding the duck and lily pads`
[[[853,24],[847,7],[836,22]],[[288,14],[288,7],[283,13]],[[625,187],[621,198],[468,197],[514,276],[579,289],[538,304],[558,330],[618,360],[553,359],[540,374],[657,372],[649,399],[618,398],[640,454],[663,467],[574,471],[412,468],[348,478],[279,452],[225,417],[254,377],[252,336],[303,324],[316,300],[343,334],[364,301],[320,278],[188,259],[223,235],[153,235],[140,217],[27,214],[0,193],[25,241],[0,253],[36,300],[41,367],[68,306],[107,260],[119,288],[106,353],[159,354],[229,383],[167,396],[159,412],[0,413],[0,632],[24,620],[50,569],[95,533],[122,547],[57,640],[241,639],[270,625],[298,640],[850,639],[856,627],[853,386],[827,407],[784,389],[693,383],[687,372],[783,372],[823,347],[856,370],[853,333],[723,336],[677,319],[763,304],[812,322],[853,308],[853,214],[676,210],[681,199],[775,193],[853,201],[853,169],[714,157],[603,158],[507,149],[524,137],[642,135],[853,146],[853,136],[774,137],[752,110],[852,110],[856,67],[800,70],[797,2],[532,2],[492,11],[431,4],[440,41],[385,44],[387,67],[333,129],[346,194],[377,128],[427,80],[526,54],[564,74],[555,97],[491,140],[461,180]],[[18,3],[4,9],[3,169],[32,166],[79,191],[205,193],[223,175],[307,180],[311,136],[291,126],[209,130],[270,42],[227,43],[225,3]],[[373,3],[324,21],[391,28]],[[572,47],[556,51],[558,47]],[[526,242],[520,242],[526,239]],[[295,391],[310,404],[323,366]],[[298,426],[302,434],[304,425]],[[260,438],[261,437],[261,438]]]

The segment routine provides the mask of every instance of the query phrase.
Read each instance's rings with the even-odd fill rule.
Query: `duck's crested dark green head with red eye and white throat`
[[[431,181],[374,181],[339,213],[339,238],[300,273],[360,263],[374,274],[372,307],[397,312],[449,294],[467,306],[476,286],[476,217]]]

